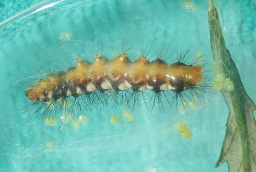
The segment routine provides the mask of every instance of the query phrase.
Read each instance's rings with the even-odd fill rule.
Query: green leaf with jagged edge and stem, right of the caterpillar
[[[213,60],[218,68],[233,82],[233,90],[222,89],[221,93],[229,107],[227,130],[220,158],[215,167],[227,161],[229,172],[256,172],[256,123],[254,102],[247,95],[238,70],[226,49],[221,32],[218,12],[209,0],[208,22]]]

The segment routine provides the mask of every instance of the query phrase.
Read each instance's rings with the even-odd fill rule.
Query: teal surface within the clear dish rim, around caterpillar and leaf
[[[196,110],[179,114],[167,109],[135,108],[134,121],[122,118],[124,107],[84,112],[88,122],[79,130],[61,122],[49,127],[36,118],[24,125],[29,112],[18,109],[29,101],[27,81],[45,77],[42,71],[66,71],[81,56],[93,61],[101,52],[114,57],[126,45],[131,58],[141,43],[150,43],[154,55],[161,43],[169,45],[170,61],[177,50],[204,54],[211,68],[207,21],[208,3],[190,0],[197,12],[184,9],[183,0],[52,0],[0,25],[0,171],[77,172],[227,172],[214,169],[226,131],[228,108],[219,91],[207,94]],[[223,0],[221,7],[226,45],[237,64],[245,90],[256,101],[256,2]],[[59,35],[70,33],[61,41]],[[126,44],[125,46],[123,44]],[[164,105],[165,106],[165,105]],[[182,138],[172,129],[186,122],[193,137]],[[54,142],[48,149],[46,143]]]

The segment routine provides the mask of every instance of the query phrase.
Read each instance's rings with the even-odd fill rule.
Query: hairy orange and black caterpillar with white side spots
[[[32,104],[29,109],[35,109],[33,116],[39,112],[48,116],[74,109],[92,110],[93,106],[107,107],[109,99],[113,108],[122,104],[123,99],[127,106],[135,107],[139,96],[147,105],[145,96],[149,96],[149,91],[154,93],[153,97],[149,96],[153,100],[152,108],[156,101],[163,108],[162,98],[173,108],[178,99],[184,104],[186,98],[201,97],[209,87],[202,82],[203,66],[196,65],[200,57],[186,64],[183,62],[186,54],[180,54],[173,64],[160,57],[150,61],[145,55],[132,61],[126,53],[116,55],[113,60],[96,54],[93,63],[77,58],[76,67],[70,67],[67,72],[47,73],[47,78],[35,79],[37,84],[28,85],[25,96]],[[109,95],[111,91],[113,97]]]

